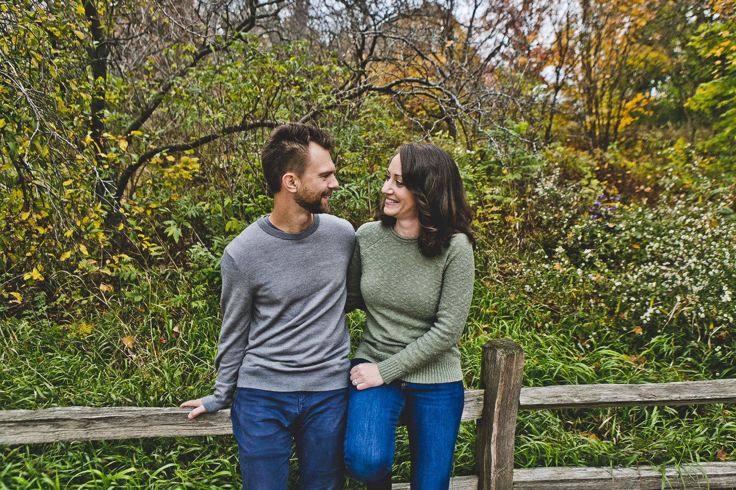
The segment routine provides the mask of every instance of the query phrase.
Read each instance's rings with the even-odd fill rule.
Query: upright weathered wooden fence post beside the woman
[[[520,345],[493,339],[483,346],[483,414],[476,426],[478,490],[511,490],[514,482],[514,434],[524,367]]]

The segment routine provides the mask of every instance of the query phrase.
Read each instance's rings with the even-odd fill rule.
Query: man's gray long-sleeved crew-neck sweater
[[[332,215],[314,215],[297,234],[264,216],[224,250],[222,327],[208,412],[225,408],[236,386],[272,392],[348,386],[350,337],[345,273],[355,232]]]

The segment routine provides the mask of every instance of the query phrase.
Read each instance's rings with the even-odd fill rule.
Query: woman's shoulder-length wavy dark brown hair
[[[458,233],[467,235],[475,247],[470,230],[473,215],[453,157],[429,143],[406,143],[397,154],[403,184],[417,202],[420,253],[425,257],[438,256],[450,245],[450,237]],[[395,217],[383,212],[383,203],[376,216],[386,226],[396,223]]]

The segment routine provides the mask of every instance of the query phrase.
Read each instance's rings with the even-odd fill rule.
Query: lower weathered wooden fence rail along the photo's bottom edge
[[[664,478],[662,476],[664,475]],[[394,483],[407,490],[408,483]],[[514,469],[514,490],[699,490],[736,488],[736,463],[660,468],[525,468]],[[478,489],[477,476],[450,480],[450,490]]]

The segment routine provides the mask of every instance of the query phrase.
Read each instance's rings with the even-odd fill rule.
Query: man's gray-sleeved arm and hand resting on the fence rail
[[[233,392],[238,384],[238,372],[248,344],[248,331],[252,318],[252,292],[247,276],[238,268],[227,251],[220,260],[222,271],[222,295],[220,310],[222,326],[217,342],[217,381],[214,393],[197,400],[188,400],[180,407],[194,408],[189,412],[193,419],[199,414],[221,410],[233,401]]]

